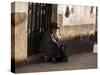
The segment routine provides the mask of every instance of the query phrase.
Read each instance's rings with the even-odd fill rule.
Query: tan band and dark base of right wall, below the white
[[[97,41],[95,25],[66,25],[58,30],[58,35],[67,46],[68,54],[93,52],[93,46]]]

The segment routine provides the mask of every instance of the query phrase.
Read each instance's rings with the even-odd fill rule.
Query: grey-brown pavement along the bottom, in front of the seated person
[[[16,68],[16,73],[28,72],[47,72],[47,71],[61,71],[61,70],[78,70],[78,69],[93,69],[97,68],[97,54],[96,53],[81,53],[69,57],[67,63],[40,63],[30,64],[24,67]]]

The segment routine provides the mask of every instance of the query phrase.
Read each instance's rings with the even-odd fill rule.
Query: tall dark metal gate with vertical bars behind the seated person
[[[28,4],[28,56],[39,53],[40,40],[45,30],[49,28],[51,15],[51,4]]]

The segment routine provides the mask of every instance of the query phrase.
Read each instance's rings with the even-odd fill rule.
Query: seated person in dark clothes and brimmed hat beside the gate
[[[56,35],[57,29],[59,29],[57,23],[52,23],[50,25],[50,30],[46,31],[43,35],[40,48],[53,62],[67,62],[68,56],[66,54],[66,49],[61,39]]]

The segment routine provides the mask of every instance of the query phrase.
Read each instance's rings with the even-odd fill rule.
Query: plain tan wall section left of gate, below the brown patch
[[[21,13],[23,14],[23,13]],[[27,30],[26,21],[15,26],[15,59],[27,58]]]

